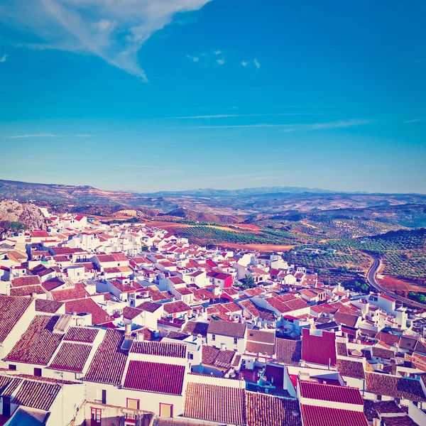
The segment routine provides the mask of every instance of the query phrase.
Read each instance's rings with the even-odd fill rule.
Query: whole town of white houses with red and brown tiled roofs
[[[426,425],[426,309],[41,211],[0,241],[0,425]]]

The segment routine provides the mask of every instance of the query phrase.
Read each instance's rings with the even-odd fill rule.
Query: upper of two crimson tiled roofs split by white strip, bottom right
[[[300,397],[333,403],[363,405],[364,401],[359,388],[334,386],[310,381],[299,381]]]

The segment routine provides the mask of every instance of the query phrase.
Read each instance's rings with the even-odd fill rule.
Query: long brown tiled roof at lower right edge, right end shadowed
[[[426,401],[420,381],[414,378],[391,376],[382,373],[366,373],[366,391],[393,398]]]

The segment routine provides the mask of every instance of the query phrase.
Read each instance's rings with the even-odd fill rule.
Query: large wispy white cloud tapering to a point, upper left
[[[10,0],[0,21],[32,31],[56,48],[91,53],[148,81],[138,50],[176,13],[197,11],[211,0]]]

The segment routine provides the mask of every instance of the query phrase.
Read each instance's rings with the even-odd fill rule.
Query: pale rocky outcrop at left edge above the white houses
[[[0,222],[19,222],[28,229],[45,229],[43,213],[37,206],[13,200],[0,202]]]

